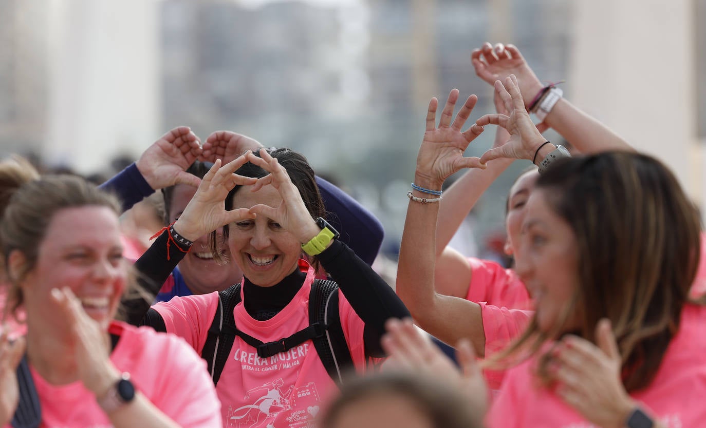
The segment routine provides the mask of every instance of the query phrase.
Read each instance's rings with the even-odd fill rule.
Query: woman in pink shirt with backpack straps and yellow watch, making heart
[[[137,315],[183,337],[202,355],[215,328],[217,343],[232,341],[219,351],[227,355],[223,365],[215,360],[211,366],[225,426],[308,426],[337,392],[332,376],[340,380],[338,367],[345,362],[334,357],[337,371],[331,374],[313,336],[303,334],[311,326],[309,300],[319,266],[339,286],[329,310],[338,310],[338,331],[352,365],[347,368],[363,371],[369,357],[383,357],[385,321],[409,314],[393,289],[335,238],[325,215],[313,170],[301,154],[248,151],[228,164],[215,162],[179,219],[136,264],[162,283],[198,237],[224,226],[223,236],[213,235],[212,251],[222,257],[217,244],[225,240],[244,272],[241,283],[229,288],[241,298],[237,305],[225,313],[225,299],[216,292],[177,296]],[[226,318],[220,328],[217,313],[232,316],[237,331],[229,335]],[[318,337],[333,335],[333,324]]]

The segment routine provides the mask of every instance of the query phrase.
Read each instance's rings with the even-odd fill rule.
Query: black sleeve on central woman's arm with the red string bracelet
[[[145,251],[145,254],[135,262],[138,284],[152,296],[152,300],[159,293],[164,281],[167,281],[169,274],[177,267],[177,263],[186,255],[186,252],[180,250],[173,242],[169,243],[167,247],[168,239],[169,232],[162,232]],[[150,309],[152,300],[145,300],[141,296],[124,298],[122,304],[126,312],[126,322],[135,326],[152,325],[148,319],[145,319],[145,314]],[[163,321],[162,324],[164,324]]]

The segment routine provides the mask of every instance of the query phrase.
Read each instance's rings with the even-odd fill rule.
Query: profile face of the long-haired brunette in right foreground
[[[541,331],[549,331],[560,321],[578,287],[578,248],[569,224],[554,212],[546,192],[537,189],[527,200],[520,245],[516,248],[515,271],[527,286]],[[562,331],[575,329],[575,312]]]

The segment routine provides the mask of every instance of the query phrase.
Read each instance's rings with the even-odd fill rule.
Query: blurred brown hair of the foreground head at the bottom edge
[[[371,398],[384,401],[390,396],[406,398],[429,419],[434,428],[479,428],[482,415],[474,411],[465,395],[439,381],[419,374],[383,372],[351,377],[340,395],[330,403],[321,419],[323,428],[335,428],[350,405]]]

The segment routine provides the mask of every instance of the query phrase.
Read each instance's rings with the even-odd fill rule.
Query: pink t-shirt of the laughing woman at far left
[[[114,322],[120,340],[110,360],[135,388],[179,427],[221,427],[220,404],[203,361],[181,338]],[[169,357],[165,357],[168,355]],[[80,381],[49,384],[30,365],[42,405],[40,428],[109,428],[95,396]],[[6,428],[11,428],[9,425]]]

